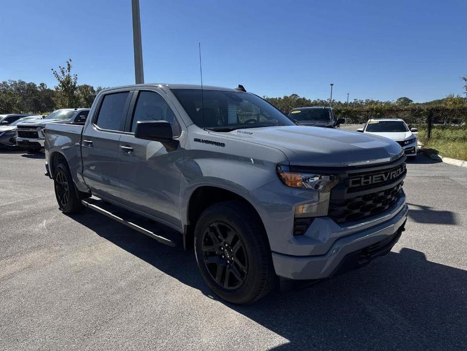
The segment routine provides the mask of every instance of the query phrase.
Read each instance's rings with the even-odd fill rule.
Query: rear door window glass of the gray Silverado
[[[129,94],[130,92],[123,92],[105,95],[94,123],[101,129],[123,131]]]

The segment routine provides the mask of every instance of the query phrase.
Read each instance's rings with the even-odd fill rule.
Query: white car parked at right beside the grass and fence
[[[369,119],[365,126],[363,128],[358,128],[357,131],[394,140],[402,146],[407,156],[417,156],[417,136],[413,133],[418,131],[418,129],[409,129],[402,119]]]

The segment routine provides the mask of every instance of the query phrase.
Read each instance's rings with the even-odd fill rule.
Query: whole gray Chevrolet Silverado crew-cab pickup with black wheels
[[[45,152],[64,213],[88,207],[162,243],[178,237],[233,303],[278,276],[362,266],[390,251],[407,217],[397,143],[296,125],[240,85],[103,90],[84,126],[46,125]]]

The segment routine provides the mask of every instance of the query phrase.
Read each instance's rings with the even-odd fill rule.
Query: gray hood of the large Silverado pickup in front
[[[337,167],[391,158],[402,148],[363,133],[300,125],[233,130],[229,135],[281,150],[292,165]]]

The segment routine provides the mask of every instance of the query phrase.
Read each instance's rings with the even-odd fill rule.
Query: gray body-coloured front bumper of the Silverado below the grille
[[[388,253],[399,240],[407,211],[403,201],[389,220],[360,231],[352,230],[324,254],[294,256],[273,252],[276,274],[288,279],[324,279],[365,265],[372,258]]]

